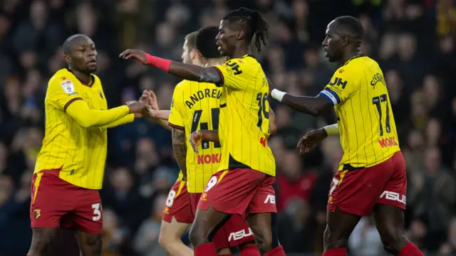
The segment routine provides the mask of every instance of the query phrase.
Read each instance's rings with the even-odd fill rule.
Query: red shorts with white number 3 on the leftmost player
[[[98,190],[63,181],[58,178],[58,171],[33,174],[31,228],[63,228],[101,234],[103,211]]]

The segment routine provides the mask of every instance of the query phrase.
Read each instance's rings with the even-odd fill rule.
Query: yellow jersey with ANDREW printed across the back
[[[183,80],[174,90],[170,118],[171,127],[184,129],[187,137],[187,190],[202,193],[207,181],[216,173],[222,159],[219,143],[202,142],[199,154],[193,151],[188,137],[200,129],[219,129],[222,89],[207,82]]]

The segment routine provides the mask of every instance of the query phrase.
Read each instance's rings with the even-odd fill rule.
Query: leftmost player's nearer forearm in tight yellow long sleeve
[[[82,127],[101,127],[128,115],[128,106],[114,107],[110,110],[90,110],[83,100],[76,100],[66,108],[66,113]]]

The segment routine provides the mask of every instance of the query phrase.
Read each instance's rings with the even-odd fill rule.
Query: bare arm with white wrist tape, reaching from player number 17
[[[321,99],[322,97],[320,96],[296,96],[276,89],[272,90],[271,96],[294,110],[310,114],[314,117],[320,115],[324,110],[326,110],[326,107],[331,106],[328,100],[324,99],[324,101],[322,101],[323,99]]]

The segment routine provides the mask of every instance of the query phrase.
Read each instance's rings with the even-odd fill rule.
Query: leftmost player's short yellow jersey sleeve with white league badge
[[[51,105],[63,112],[66,111],[71,103],[76,100],[83,100],[71,80],[59,80],[58,78],[49,80],[46,98]]]

